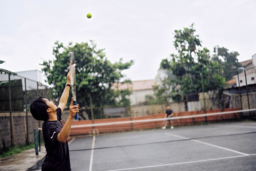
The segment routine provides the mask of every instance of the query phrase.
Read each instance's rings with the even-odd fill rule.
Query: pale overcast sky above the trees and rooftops
[[[174,52],[174,30],[195,23],[202,45],[256,53],[255,0],[0,0],[0,68],[41,70],[52,46],[94,40],[112,63],[134,60],[123,72],[132,81],[154,79]],[[92,18],[86,18],[91,13]]]

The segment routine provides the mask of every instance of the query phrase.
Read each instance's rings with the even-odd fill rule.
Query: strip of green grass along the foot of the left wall
[[[0,149],[0,158],[17,154],[24,150],[31,149],[33,147],[35,147],[35,144],[30,143],[29,145],[19,145],[19,146],[13,146],[5,149]]]

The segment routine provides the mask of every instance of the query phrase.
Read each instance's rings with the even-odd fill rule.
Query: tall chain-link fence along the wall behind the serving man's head
[[[34,129],[42,121],[30,113],[30,104],[38,96],[51,99],[51,88],[39,81],[0,69],[0,150],[34,142]]]

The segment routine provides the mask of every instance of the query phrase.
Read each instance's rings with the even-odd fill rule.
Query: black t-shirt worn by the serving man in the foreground
[[[42,171],[60,170],[70,171],[68,142],[57,140],[63,125],[61,123],[61,109],[57,109],[57,121],[45,121],[42,125],[43,139],[46,148],[46,157],[42,164]]]

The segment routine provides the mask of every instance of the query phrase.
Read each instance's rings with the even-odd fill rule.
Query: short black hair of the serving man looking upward
[[[46,111],[49,106],[47,106],[43,98],[44,97],[42,96],[38,97],[30,105],[30,112],[32,116],[39,121],[47,121],[49,119],[49,115]]]

